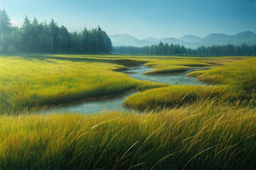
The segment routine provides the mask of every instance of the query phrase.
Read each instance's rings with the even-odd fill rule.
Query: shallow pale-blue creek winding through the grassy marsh
[[[198,85],[204,84],[199,82],[195,77],[187,77],[186,74],[199,70],[198,68],[191,69],[190,71],[185,72],[177,72],[171,74],[157,74],[157,75],[143,75],[142,73],[146,71],[151,71],[152,68],[147,68],[144,65],[129,67],[125,71],[121,71],[122,73],[128,74],[133,79],[139,80],[148,80],[151,82],[159,82],[166,84],[181,84],[181,85]],[[134,94],[137,91],[128,91],[125,93],[121,93],[119,95],[111,95],[107,97],[95,98],[95,99],[87,99],[81,102],[76,102],[71,105],[65,106],[56,106],[50,109],[45,110],[45,113],[85,113],[92,114],[101,111],[115,110],[115,111],[129,111],[130,109],[124,108],[122,103],[124,100]]]

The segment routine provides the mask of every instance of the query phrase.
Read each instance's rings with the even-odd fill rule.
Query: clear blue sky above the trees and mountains
[[[128,33],[139,39],[180,38],[210,33],[256,33],[256,0],[0,0],[13,23],[27,14],[70,31],[98,25],[109,35]]]

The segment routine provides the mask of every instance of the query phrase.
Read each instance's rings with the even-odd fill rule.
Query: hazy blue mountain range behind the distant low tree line
[[[149,37],[143,40],[139,40],[129,34],[117,34],[109,35],[113,46],[146,46],[152,44],[159,44],[159,42],[168,43],[168,44],[180,44],[189,48],[197,48],[198,46],[210,46],[213,44],[234,44],[240,45],[246,43],[248,45],[256,44],[256,34],[252,31],[245,31],[238,33],[236,35],[226,35],[220,33],[212,33],[207,35],[204,38],[197,37],[195,35],[184,35],[181,38],[162,38],[157,39]]]

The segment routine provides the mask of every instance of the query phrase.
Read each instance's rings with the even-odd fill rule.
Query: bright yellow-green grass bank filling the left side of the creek
[[[166,86],[116,72],[126,67],[112,63],[127,64],[126,60],[106,62],[79,56],[0,56],[0,110],[65,104]]]

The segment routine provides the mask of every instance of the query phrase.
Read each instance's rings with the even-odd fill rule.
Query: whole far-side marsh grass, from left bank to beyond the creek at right
[[[117,71],[144,64],[145,74],[185,71],[191,66],[213,66],[241,57],[159,57],[119,55],[17,55],[0,56],[0,110],[69,104],[137,89],[167,86],[131,79]],[[210,63],[210,64],[209,64]],[[7,111],[8,110],[8,111]]]

